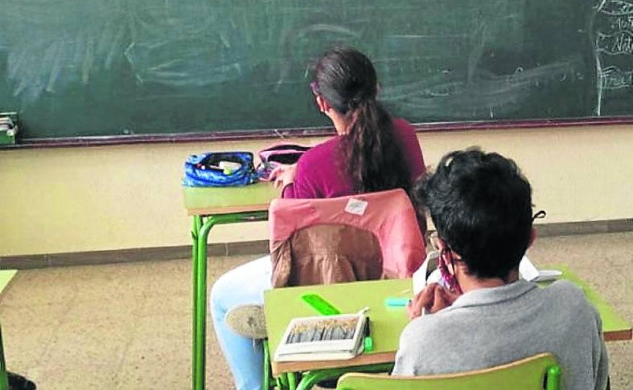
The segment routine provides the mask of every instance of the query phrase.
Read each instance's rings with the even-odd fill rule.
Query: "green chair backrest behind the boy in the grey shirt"
[[[350,373],[337,390],[557,390],[560,367],[550,353],[489,369],[418,377]]]

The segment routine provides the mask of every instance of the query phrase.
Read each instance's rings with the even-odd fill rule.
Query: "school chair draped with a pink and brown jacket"
[[[411,277],[426,256],[417,213],[401,189],[275,199],[268,216],[273,288]],[[254,334],[248,337],[262,339],[265,329]],[[272,380],[266,339],[263,346],[264,389],[287,388],[285,378]]]

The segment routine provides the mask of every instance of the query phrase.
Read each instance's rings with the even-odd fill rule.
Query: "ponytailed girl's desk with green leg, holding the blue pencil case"
[[[206,245],[209,232],[218,224],[265,221],[268,204],[279,197],[272,183],[239,187],[184,187],[187,214],[193,217],[191,236],[193,270],[193,389],[204,389],[206,345]]]

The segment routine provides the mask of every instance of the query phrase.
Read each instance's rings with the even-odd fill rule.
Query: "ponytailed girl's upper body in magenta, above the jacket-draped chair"
[[[295,166],[273,171],[288,198],[330,198],[403,188],[423,173],[415,131],[392,119],[377,101],[372,62],[359,51],[337,47],[315,68],[312,93],[338,134],[317,145]]]

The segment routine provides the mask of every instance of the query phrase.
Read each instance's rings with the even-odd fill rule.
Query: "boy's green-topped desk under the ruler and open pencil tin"
[[[631,339],[631,325],[618,315],[608,303],[579,277],[566,267],[555,267],[563,271],[563,278],[579,285],[598,310],[603,320],[606,341]],[[545,284],[545,283],[544,283]],[[313,308],[301,300],[304,293],[317,293],[342,313],[358,312],[367,306],[371,320],[373,351],[363,353],[351,360],[329,360],[320,362],[275,362],[274,356],[285,328],[294,317],[318,315]],[[272,359],[273,376],[284,377],[291,390],[307,390],[323,379],[337,377],[346,372],[390,371],[398,350],[399,336],[408,324],[406,308],[387,308],[388,296],[408,296],[411,293],[410,279],[391,279],[356,283],[330,284],[327,286],[304,286],[271,289],[265,292],[266,327]],[[303,374],[295,387],[296,374]]]

